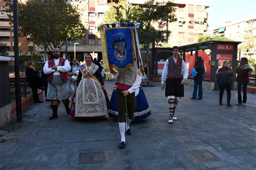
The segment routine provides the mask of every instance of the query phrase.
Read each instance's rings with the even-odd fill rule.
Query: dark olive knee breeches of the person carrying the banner
[[[117,109],[118,109],[118,122],[125,122],[125,97],[122,94],[122,90],[117,89]],[[134,110],[135,110],[135,93],[129,94],[126,96],[126,104],[127,104],[127,116],[129,119],[134,118]]]

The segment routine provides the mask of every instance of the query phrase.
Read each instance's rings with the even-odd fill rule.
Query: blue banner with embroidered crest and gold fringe
[[[119,71],[133,67],[133,27],[107,28],[105,37],[109,64]]]

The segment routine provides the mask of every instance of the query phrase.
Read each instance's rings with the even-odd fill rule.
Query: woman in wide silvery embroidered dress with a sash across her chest
[[[72,117],[98,117],[107,115],[104,81],[99,67],[92,62],[91,54],[86,54],[85,64],[80,65],[77,89],[72,99]]]

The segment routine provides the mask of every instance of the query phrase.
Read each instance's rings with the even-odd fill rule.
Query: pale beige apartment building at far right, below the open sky
[[[226,22],[225,25],[205,32],[210,36],[223,36],[234,41],[241,41],[238,45],[238,58],[256,59],[256,18],[247,18]]]

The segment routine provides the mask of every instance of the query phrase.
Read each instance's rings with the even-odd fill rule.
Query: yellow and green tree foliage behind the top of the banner
[[[104,22],[118,23],[117,16],[120,16],[120,22],[140,23],[138,29],[140,44],[164,42],[171,33],[168,29],[164,30],[164,26],[177,20],[173,6],[172,2],[154,2],[154,0],[149,0],[139,6],[131,6],[124,0],[119,3],[112,2],[109,11],[104,15]],[[152,25],[153,23],[158,24],[158,29]]]

